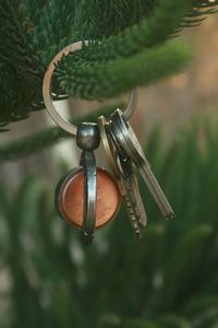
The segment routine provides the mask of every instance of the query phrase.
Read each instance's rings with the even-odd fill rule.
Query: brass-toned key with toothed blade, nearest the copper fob
[[[109,165],[117,178],[118,187],[120,189],[120,194],[122,196],[122,199],[124,201],[124,206],[129,215],[129,220],[131,222],[134,235],[140,238],[141,237],[141,231],[140,231],[140,216],[141,216],[141,209],[137,207],[137,202],[135,202],[132,198],[132,187],[131,185],[123,178],[123,176],[120,174],[118,164],[117,164],[117,155],[114,147],[111,142],[111,139],[107,134],[106,127],[107,127],[107,120],[104,116],[100,116],[98,118],[99,124],[99,130],[100,136],[102,140],[102,144],[105,148],[106,156],[108,159]]]

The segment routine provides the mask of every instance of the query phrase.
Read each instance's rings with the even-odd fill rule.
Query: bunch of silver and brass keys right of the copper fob
[[[120,109],[98,118],[106,156],[117,178],[126,212],[136,237],[141,226],[146,226],[147,214],[142,201],[135,171],[138,169],[152,196],[166,219],[173,219],[174,212],[161,190],[150,164],[146,159],[136,134]]]

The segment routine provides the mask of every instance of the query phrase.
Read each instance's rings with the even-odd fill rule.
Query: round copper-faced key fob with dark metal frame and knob
[[[76,141],[82,149],[81,166],[60,179],[55,201],[62,219],[78,227],[83,244],[89,245],[95,229],[116,216],[121,195],[114,177],[105,168],[96,167],[94,150],[100,141],[98,125],[81,124]]]

